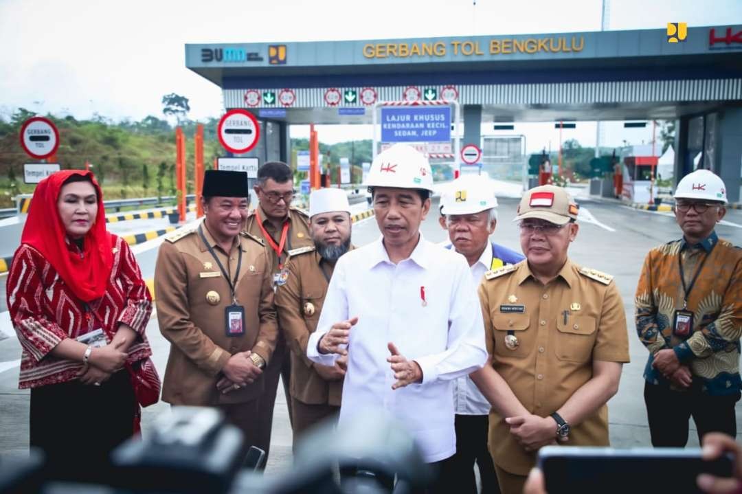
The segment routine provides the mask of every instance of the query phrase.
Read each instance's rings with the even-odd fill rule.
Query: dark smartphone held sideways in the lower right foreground
[[[701,493],[700,473],[732,476],[732,457],[701,459],[699,448],[560,447],[539,450],[548,494]]]

